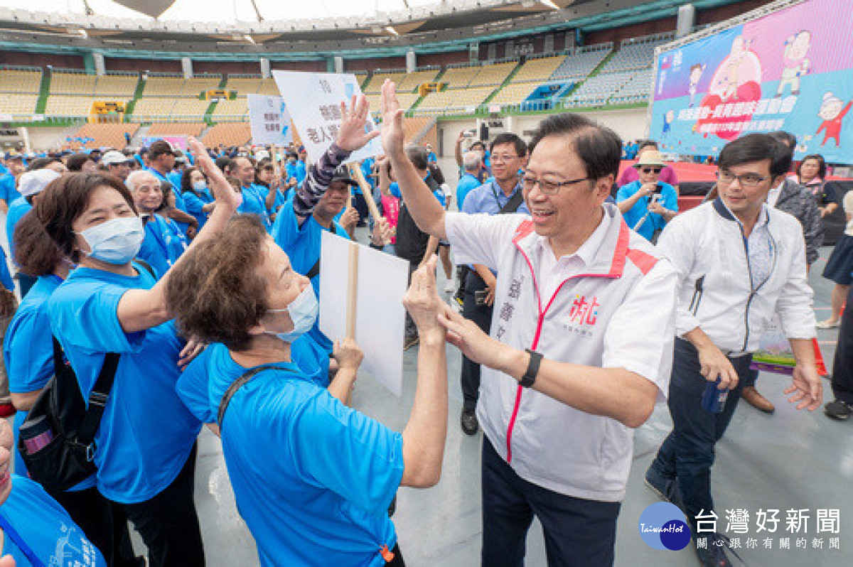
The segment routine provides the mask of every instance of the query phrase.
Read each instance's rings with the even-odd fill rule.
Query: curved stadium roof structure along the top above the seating
[[[707,9],[739,0],[694,0]],[[3,0],[0,49],[316,58],[456,50],[676,14],[684,0]],[[136,55],[131,55],[136,52]]]

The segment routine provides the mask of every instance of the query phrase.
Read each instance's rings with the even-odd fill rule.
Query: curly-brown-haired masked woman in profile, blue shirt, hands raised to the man
[[[438,482],[447,430],[435,260],[415,272],[404,300],[421,349],[402,434],[341,402],[362,359],[351,340],[335,347],[339,370],[328,389],[293,362],[291,343],[313,326],[316,296],[257,217],[236,217],[218,239],[187,252],[171,271],[166,302],[184,333],[220,343],[190,365],[196,387],[184,387],[182,376],[178,391],[200,417],[222,416],[225,463],[260,563],[403,564],[386,511],[399,486]],[[249,379],[235,390],[241,377]]]

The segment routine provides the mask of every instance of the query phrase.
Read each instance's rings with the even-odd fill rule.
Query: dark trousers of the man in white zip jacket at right
[[[670,376],[669,406],[673,430],[658,450],[652,466],[667,478],[678,478],[685,512],[695,521],[700,511],[714,509],[711,499],[711,466],[714,445],[726,432],[743,390],[752,356],[729,359],[738,373],[738,385],[728,392],[726,406],[719,414],[702,408],[702,394],[708,383],[699,373],[699,353],[693,344],[676,338]]]

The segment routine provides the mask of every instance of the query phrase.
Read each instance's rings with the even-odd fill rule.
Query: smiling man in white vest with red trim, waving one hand
[[[448,338],[483,367],[482,562],[524,563],[534,516],[548,564],[613,563],[632,428],[668,391],[676,277],[605,204],[622,144],[579,114],[543,120],[522,177],[530,215],[446,212],[403,151],[383,86],[382,143],[415,223],[456,263],[496,270],[490,335],[450,307]]]

